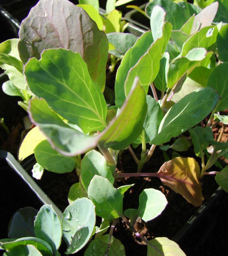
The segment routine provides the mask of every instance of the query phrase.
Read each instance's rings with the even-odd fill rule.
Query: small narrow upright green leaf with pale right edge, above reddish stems
[[[167,90],[168,67],[169,67],[169,53],[165,52],[162,56],[162,59],[160,60],[160,69],[154,80],[155,87],[162,92],[165,92]]]

